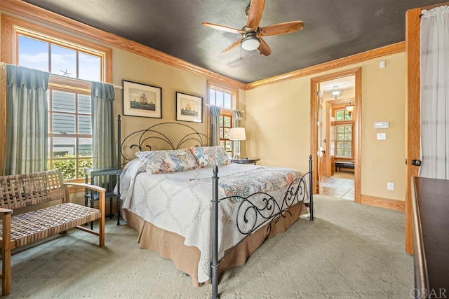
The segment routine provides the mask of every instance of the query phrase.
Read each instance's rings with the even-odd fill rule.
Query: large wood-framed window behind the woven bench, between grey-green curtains
[[[51,74],[48,169],[61,169],[65,179],[83,179],[84,169],[92,167],[91,81],[111,81],[105,70],[112,51],[34,25],[14,26],[13,32],[15,64]]]

